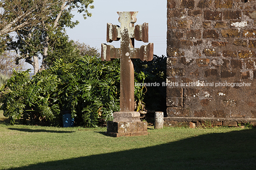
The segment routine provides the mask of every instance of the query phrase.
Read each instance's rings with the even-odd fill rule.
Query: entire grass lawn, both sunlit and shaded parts
[[[6,125],[0,113],[0,170],[252,170],[256,129],[149,127],[112,138],[106,128]]]

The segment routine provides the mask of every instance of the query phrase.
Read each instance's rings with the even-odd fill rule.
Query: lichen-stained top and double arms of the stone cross
[[[121,23],[121,27],[107,23],[107,42],[122,40],[122,35],[128,33],[129,41],[129,58],[140,59],[142,61],[150,61],[153,59],[153,48],[154,44],[149,43],[148,45],[142,45],[140,48],[134,48],[134,39],[143,42],[149,42],[149,24],[143,23],[142,25],[136,25],[136,15],[138,12],[117,12],[120,16],[118,21]],[[130,18],[129,18],[130,14]],[[126,15],[126,16],[125,16]],[[122,20],[122,17],[126,17],[129,20]],[[128,21],[129,23],[124,23]],[[124,37],[123,37],[124,38]],[[122,42],[121,42],[122,45]],[[127,43],[126,43],[127,45]],[[122,48],[122,47],[121,47]],[[101,44],[101,60],[111,60],[121,58],[121,48],[115,48],[113,45]],[[127,53],[128,54],[128,53]]]

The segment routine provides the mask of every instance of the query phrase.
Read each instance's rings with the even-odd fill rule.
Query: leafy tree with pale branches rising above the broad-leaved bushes
[[[78,13],[83,13],[86,19],[86,17],[91,16],[91,13],[87,9],[94,8],[94,6],[90,6],[93,0],[18,0],[18,2],[11,0],[8,2],[4,1],[0,4],[4,9],[1,17],[8,16],[10,18],[9,31],[2,31],[1,34],[0,30],[0,36],[10,31],[16,31],[16,39],[13,39],[9,44],[9,50],[15,50],[17,54],[20,54],[17,62],[25,59],[26,62],[32,64],[34,73],[37,73],[39,70],[38,61],[40,56],[43,56],[42,69],[44,70],[49,66],[47,65],[49,61],[47,59],[48,55],[52,54],[53,56],[54,53],[58,53],[55,50],[60,49],[57,48],[64,47],[68,48],[66,51],[70,51],[70,44],[64,44],[67,42],[65,28],[74,28],[79,23],[78,21],[72,21],[74,15],[71,11],[77,10]],[[15,6],[15,3],[18,3],[18,5]],[[11,4],[13,5],[13,9],[9,10]],[[37,8],[38,6],[43,6],[44,8]],[[15,13],[15,10],[21,10],[19,15],[24,15],[24,17],[19,17]],[[15,16],[22,20],[16,22]],[[28,17],[31,18],[28,19]],[[0,22],[0,29],[6,30],[7,25],[8,23]],[[11,29],[11,27],[13,28]]]

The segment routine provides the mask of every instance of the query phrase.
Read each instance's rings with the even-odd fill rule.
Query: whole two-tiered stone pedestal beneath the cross
[[[107,121],[107,135],[112,137],[120,136],[141,136],[148,135],[148,124],[139,119],[139,112],[114,112],[114,120]]]

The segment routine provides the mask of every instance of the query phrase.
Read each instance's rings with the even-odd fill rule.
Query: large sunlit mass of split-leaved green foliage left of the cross
[[[1,88],[1,109],[14,123],[43,122],[61,125],[61,110],[71,110],[76,125],[94,127],[100,119],[111,120],[118,111],[118,60],[102,62],[85,56],[73,63],[62,60],[29,78],[29,71],[16,72]],[[8,88],[7,93],[3,93]]]

